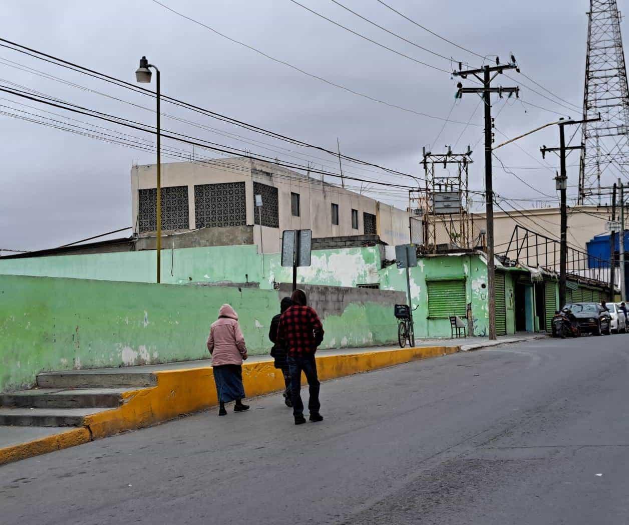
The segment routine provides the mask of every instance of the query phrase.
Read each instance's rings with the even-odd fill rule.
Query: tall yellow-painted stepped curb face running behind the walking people
[[[360,354],[319,356],[316,358],[320,380],[330,380],[355,373],[377,370],[443,354],[453,354],[459,347],[430,346],[386,350]],[[216,386],[212,368],[191,368],[156,372],[157,386],[125,392],[125,404],[116,409],[88,415],[84,425],[94,439],[118,432],[146,427],[179,415],[216,406]],[[282,372],[272,361],[244,363],[243,383],[247,397],[255,397],[284,389]],[[302,377],[305,383],[305,378]]]

